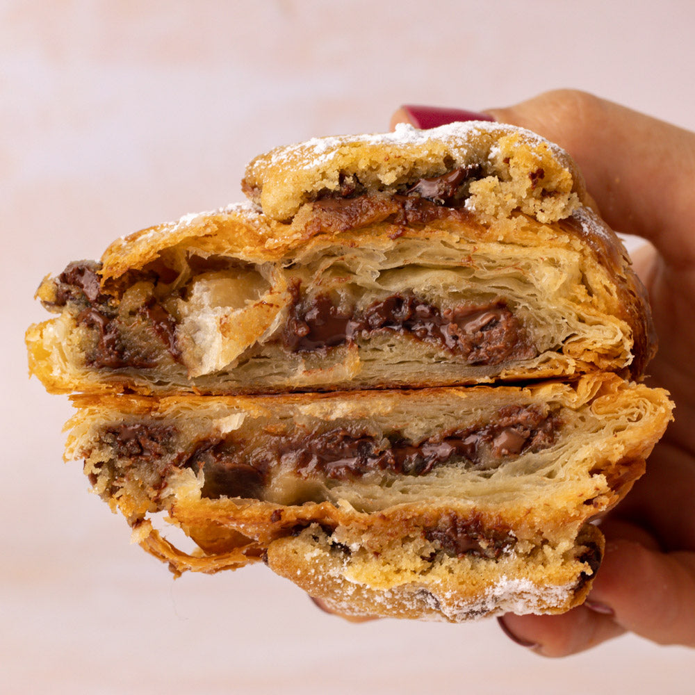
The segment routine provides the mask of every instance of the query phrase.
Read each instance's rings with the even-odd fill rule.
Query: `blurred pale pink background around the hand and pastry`
[[[275,145],[380,131],[402,103],[558,87],[695,129],[695,4],[0,3],[0,690],[692,692],[695,653],[632,636],[561,661],[496,621],[352,625],[263,566],[172,581],[62,464],[67,398],[26,379],[40,279],[116,236],[241,199]]]

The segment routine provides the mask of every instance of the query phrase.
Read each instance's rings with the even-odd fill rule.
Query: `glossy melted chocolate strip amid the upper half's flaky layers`
[[[281,335],[291,352],[325,351],[392,332],[434,343],[471,364],[495,365],[538,354],[521,321],[502,300],[441,311],[414,295],[394,294],[351,314],[338,309],[328,295],[302,298],[298,283],[291,292],[293,302]]]

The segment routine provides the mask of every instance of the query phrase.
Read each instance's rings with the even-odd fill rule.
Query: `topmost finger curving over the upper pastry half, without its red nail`
[[[564,147],[611,227],[651,240],[679,268],[695,259],[694,133],[572,90],[489,113]]]

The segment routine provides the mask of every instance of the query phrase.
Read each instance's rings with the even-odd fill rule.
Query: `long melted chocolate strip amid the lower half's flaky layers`
[[[493,423],[450,430],[418,442],[399,432],[377,438],[345,427],[268,434],[263,445],[255,448],[230,435],[199,442],[181,466],[203,471],[204,497],[262,499],[269,473],[278,465],[305,479],[343,481],[359,480],[374,471],[427,475],[448,464],[496,468],[506,457],[553,445],[560,424],[557,416],[526,405],[501,408]]]

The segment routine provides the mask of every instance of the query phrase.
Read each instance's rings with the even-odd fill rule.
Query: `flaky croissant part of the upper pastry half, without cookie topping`
[[[29,329],[31,370],[51,391],[218,394],[644,370],[641,285],[588,209],[403,226],[391,205],[358,228],[230,209],[117,243],[44,281],[60,316]]]

